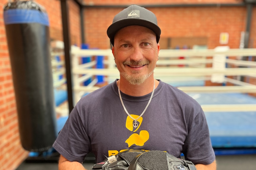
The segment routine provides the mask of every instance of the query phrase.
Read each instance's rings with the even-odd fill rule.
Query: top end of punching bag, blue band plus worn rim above
[[[39,23],[49,26],[48,14],[33,1],[8,3],[4,7],[4,24]]]

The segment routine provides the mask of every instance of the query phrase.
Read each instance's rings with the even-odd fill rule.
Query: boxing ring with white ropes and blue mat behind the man
[[[72,48],[71,54],[74,105],[100,87],[97,76],[106,83],[119,78],[110,49]],[[226,46],[159,52],[155,78],[183,90],[202,106],[216,154],[256,153],[255,54],[256,49]],[[104,57],[102,61],[80,63],[81,57],[93,56]],[[97,62],[104,67],[96,68]],[[83,82],[89,79],[91,82],[85,86]],[[207,81],[218,85],[206,86]]]

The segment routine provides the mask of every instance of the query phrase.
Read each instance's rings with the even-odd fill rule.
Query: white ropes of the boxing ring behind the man
[[[94,49],[80,49],[73,47],[72,54],[72,74],[73,74],[73,90],[74,90],[74,104],[76,104],[83,95],[90,93],[99,87],[97,85],[97,78],[95,75],[104,76],[104,81],[111,82],[119,77],[119,72],[113,59],[113,54],[110,49],[94,50]],[[161,49],[159,52],[159,60],[157,67],[154,70],[156,79],[161,79],[164,82],[172,80],[173,82],[193,82],[211,80],[213,74],[225,76],[247,76],[256,77],[256,62],[255,61],[241,61],[236,59],[229,59],[228,56],[255,56],[255,48],[247,49],[228,49],[226,51],[216,51],[214,49],[186,49],[186,50],[165,50]],[[54,54],[63,55],[63,53]],[[215,69],[206,67],[206,64],[212,64],[214,60],[211,58],[214,55],[225,56],[225,63],[235,66],[234,68]],[[105,67],[103,69],[94,68],[97,61],[80,64],[81,57],[104,56],[102,61]],[[185,56],[185,59],[178,59],[179,56]],[[63,66],[64,61],[52,62],[53,67]],[[178,66],[179,64],[182,67]],[[54,72],[54,76],[64,74],[63,68]],[[86,80],[92,79],[89,85],[81,85]],[[54,87],[59,87],[65,82],[65,78],[55,82]],[[185,93],[256,93],[256,85],[242,82],[236,79],[224,78],[224,82],[230,82],[233,86],[178,86],[180,90]],[[218,106],[218,107],[217,107]],[[228,104],[228,105],[202,105],[204,111],[256,111],[256,106],[253,104]],[[216,109],[218,108],[218,109]]]

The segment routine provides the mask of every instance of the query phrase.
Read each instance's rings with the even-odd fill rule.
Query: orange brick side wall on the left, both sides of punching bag
[[[0,0],[3,9],[7,0]],[[59,0],[37,0],[45,7],[50,22],[50,38],[62,40],[61,6]],[[81,44],[80,13],[73,1],[68,1],[70,41]],[[15,94],[12,84],[12,72],[5,34],[3,10],[0,10],[0,170],[14,170],[28,156],[20,143]]]

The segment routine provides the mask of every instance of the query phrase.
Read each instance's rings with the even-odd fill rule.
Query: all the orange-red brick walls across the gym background
[[[85,0],[84,0],[85,1]],[[0,0],[0,8],[7,0]],[[63,40],[61,7],[59,0],[36,0],[45,7],[50,21],[50,38]],[[172,3],[239,3],[238,0],[173,0]],[[86,0],[87,5],[135,4],[138,1]],[[157,4],[165,4],[158,0]],[[141,1],[138,4],[156,4],[155,0]],[[75,2],[68,0],[70,41],[80,46],[79,8]],[[123,8],[86,8],[84,11],[85,41],[90,48],[110,48],[106,35],[112,19]],[[157,15],[162,29],[162,38],[171,37],[206,37],[208,48],[219,46],[219,33],[229,33],[231,48],[238,48],[240,33],[245,30],[245,7],[186,7],[186,8],[148,8]],[[256,8],[253,8],[249,47],[256,48]],[[255,80],[252,80],[255,82]],[[19,139],[18,119],[15,94],[12,85],[12,72],[8,54],[3,10],[0,10],[0,169],[14,170],[27,157]]]

